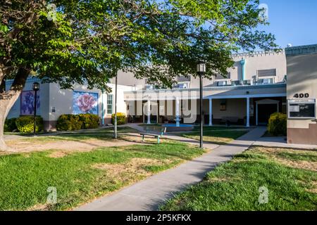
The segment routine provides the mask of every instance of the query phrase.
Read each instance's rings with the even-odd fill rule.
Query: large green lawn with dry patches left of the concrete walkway
[[[0,156],[0,210],[68,210],[144,177],[191,160],[203,150],[184,143],[56,150]],[[57,204],[47,205],[49,187]]]

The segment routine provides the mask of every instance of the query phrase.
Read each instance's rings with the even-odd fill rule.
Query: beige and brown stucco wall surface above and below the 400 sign
[[[299,47],[295,47],[298,49]],[[309,98],[317,98],[317,51],[316,53],[287,55],[287,99],[294,99],[295,94],[308,93]],[[305,52],[306,46],[302,47]],[[317,47],[316,47],[317,49]],[[288,143],[317,144],[316,120],[288,119]]]

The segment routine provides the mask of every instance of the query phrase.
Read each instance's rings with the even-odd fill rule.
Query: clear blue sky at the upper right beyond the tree
[[[285,48],[317,44],[316,0],[261,0],[268,5],[268,22],[263,30],[275,34],[276,44]]]

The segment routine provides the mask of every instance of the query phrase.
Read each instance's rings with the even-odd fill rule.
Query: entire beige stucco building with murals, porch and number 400
[[[286,113],[287,141],[317,144],[317,45],[239,53],[232,58],[235,65],[227,76],[203,79],[204,124],[261,126],[268,123],[272,113]],[[8,117],[32,115],[32,107],[27,104],[35,81],[27,79]],[[108,84],[112,88],[108,94],[85,85],[64,90],[58,84],[41,84],[38,112],[45,129],[55,129],[59,115],[66,113],[94,113],[101,117],[102,124],[110,123],[115,99],[113,81]],[[88,107],[85,99],[89,99]],[[125,113],[128,122],[198,123],[199,79],[180,76],[173,89],[160,89],[148,84],[147,79],[119,72],[118,112]]]

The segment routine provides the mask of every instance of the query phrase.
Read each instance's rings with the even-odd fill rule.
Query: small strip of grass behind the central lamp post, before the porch
[[[207,130],[204,131],[204,141],[209,141],[211,143],[216,143],[218,145],[223,145],[226,143],[229,143],[240,136],[247,134],[249,129],[245,130],[230,130],[230,129],[225,129],[225,130]],[[193,131],[189,133],[184,133],[182,136],[189,138],[189,139],[195,139],[199,140],[199,131]]]

